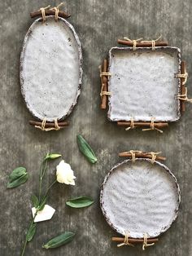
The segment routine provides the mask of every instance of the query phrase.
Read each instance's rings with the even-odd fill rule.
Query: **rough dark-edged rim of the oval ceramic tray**
[[[47,20],[51,20],[51,19],[55,20],[55,15],[46,16],[46,22],[47,22]],[[36,114],[33,112],[33,109],[29,108],[28,102],[25,99],[24,80],[22,77],[22,71],[23,71],[23,60],[24,60],[24,51],[26,49],[26,47],[25,47],[26,42],[28,41],[28,37],[30,36],[31,31],[33,30],[33,27],[41,20],[42,20],[41,17],[34,20],[33,23],[29,26],[28,31],[24,36],[24,42],[22,44],[22,48],[21,48],[21,52],[20,52],[20,70],[19,70],[19,72],[20,72],[20,90],[21,90],[21,95],[24,98],[24,103],[25,103],[26,107],[28,108],[29,113],[31,113],[33,115],[33,117],[35,117],[37,120],[40,120],[40,121],[42,121],[43,118],[36,116]],[[73,34],[73,36],[76,40],[77,46],[78,46],[78,56],[79,56],[79,60],[78,60],[78,62],[79,62],[79,82],[78,82],[78,86],[77,86],[76,99],[74,100],[73,104],[69,108],[68,113],[58,119],[58,121],[63,121],[72,113],[72,110],[76,106],[77,100],[81,94],[82,76],[83,76],[83,68],[82,68],[83,56],[82,56],[81,42],[80,42],[80,39],[79,39],[73,25],[70,24],[67,20],[63,19],[62,17],[58,17],[58,20],[63,21],[63,23],[68,26],[68,29],[70,29],[72,31],[72,34]],[[54,118],[46,118],[46,121],[54,121]]]

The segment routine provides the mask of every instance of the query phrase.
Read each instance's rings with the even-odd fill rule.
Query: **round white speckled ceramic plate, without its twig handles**
[[[101,208],[107,223],[133,238],[159,236],[177,218],[180,190],[175,176],[155,161],[126,160],[104,180]]]

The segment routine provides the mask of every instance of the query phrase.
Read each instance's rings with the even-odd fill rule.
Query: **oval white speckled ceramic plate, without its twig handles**
[[[20,57],[20,84],[34,117],[64,119],[81,88],[81,43],[68,21],[55,16],[33,22]]]

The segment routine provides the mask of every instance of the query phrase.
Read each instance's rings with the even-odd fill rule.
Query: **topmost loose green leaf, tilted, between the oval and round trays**
[[[94,150],[90,148],[89,143],[81,135],[77,135],[77,144],[81,153],[87,158],[87,160],[94,164],[98,161],[97,157],[95,156]]]

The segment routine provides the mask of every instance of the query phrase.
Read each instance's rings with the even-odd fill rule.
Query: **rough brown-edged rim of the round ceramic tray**
[[[123,233],[121,233],[117,227],[115,227],[113,225],[113,223],[111,223],[110,219],[107,218],[107,213],[106,213],[106,210],[103,209],[103,202],[102,202],[102,199],[103,199],[103,190],[104,190],[104,187],[105,187],[105,184],[107,183],[107,180],[109,179],[109,177],[111,176],[111,174],[116,171],[116,169],[119,167],[119,166],[123,166],[124,164],[126,164],[127,162],[131,162],[132,159],[125,159],[124,161],[121,161],[119,163],[117,163],[115,166],[113,166],[111,168],[111,170],[105,175],[105,178],[103,180],[103,184],[100,188],[100,196],[99,196],[99,204],[100,204],[100,208],[102,210],[102,213],[103,213],[103,216],[105,218],[105,220],[107,221],[108,225],[113,229],[115,230],[117,233],[119,233],[121,236],[124,236]],[[135,161],[148,161],[148,162],[151,162],[151,159],[150,158],[143,158],[143,157],[136,157],[135,158]],[[177,209],[175,210],[175,215],[174,215],[174,218],[172,218],[172,222],[161,232],[159,232],[159,235],[158,236],[155,236],[155,237],[159,237],[161,236],[164,232],[167,232],[168,229],[172,226],[172,223],[175,222],[175,220],[177,219],[177,216],[178,216],[178,213],[179,213],[179,209],[180,209],[180,205],[181,205],[181,190],[180,190],[180,187],[179,187],[179,183],[177,182],[177,178],[176,176],[172,173],[172,171],[168,168],[168,166],[165,166],[164,164],[162,164],[161,162],[159,161],[156,161],[154,162],[154,164],[157,164],[161,167],[164,168],[164,170],[166,170],[168,172],[168,174],[170,174],[173,178],[173,180],[175,181],[175,184],[176,184],[176,188],[177,188]],[[149,238],[153,238],[154,236],[149,236]],[[135,239],[141,239],[141,237],[133,237]]]

